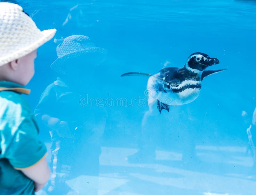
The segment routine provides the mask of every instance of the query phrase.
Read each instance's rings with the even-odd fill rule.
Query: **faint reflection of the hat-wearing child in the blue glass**
[[[47,191],[65,194],[71,191],[67,180],[99,174],[98,141],[107,112],[104,107],[81,105],[80,100],[85,94],[99,97],[95,67],[106,51],[94,47],[86,36],[72,35],[57,46],[57,54],[51,68],[60,77],[44,90],[35,114],[49,127],[52,138],[52,179]]]

